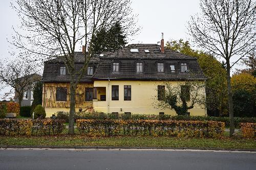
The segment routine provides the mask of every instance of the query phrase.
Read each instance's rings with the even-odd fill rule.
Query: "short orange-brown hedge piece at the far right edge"
[[[242,136],[245,138],[256,138],[256,123],[241,123]]]

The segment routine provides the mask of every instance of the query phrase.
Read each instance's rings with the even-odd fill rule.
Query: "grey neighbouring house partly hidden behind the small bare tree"
[[[33,75],[29,75],[29,80],[25,80],[24,77],[21,77],[21,78],[18,78],[19,80],[18,81],[26,81],[26,84],[28,84],[27,82],[31,82],[29,84],[33,84],[34,82],[37,82],[37,81],[41,81],[41,76],[40,75],[37,75],[37,74],[33,74]],[[19,85],[19,84],[17,84]],[[23,96],[23,100],[22,100],[22,103],[21,103],[21,106],[31,106],[32,105],[32,102],[33,102],[33,85],[28,85],[24,88],[24,96]],[[17,91],[15,91],[15,94],[14,94],[14,102],[17,102],[18,103],[18,93]]]

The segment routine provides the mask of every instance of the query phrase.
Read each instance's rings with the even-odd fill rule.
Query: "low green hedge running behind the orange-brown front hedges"
[[[69,112],[55,113],[57,119],[64,119],[66,123],[69,122]],[[89,113],[89,112],[76,112],[76,119],[119,119],[119,120],[211,120],[225,123],[229,127],[229,117],[211,117],[211,116],[174,116],[174,115],[153,115],[153,114],[118,114],[118,116],[111,113]],[[240,128],[240,123],[256,123],[256,117],[234,117],[234,126]]]

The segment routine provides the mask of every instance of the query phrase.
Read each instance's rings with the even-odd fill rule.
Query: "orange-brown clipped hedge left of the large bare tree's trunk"
[[[52,135],[60,134],[64,120],[0,119],[0,135]]]

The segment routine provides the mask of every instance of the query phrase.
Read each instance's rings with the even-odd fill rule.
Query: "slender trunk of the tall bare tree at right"
[[[232,99],[232,90],[231,90],[231,81],[230,81],[230,64],[227,61],[227,95],[228,95],[228,106],[229,106],[229,136],[232,136],[234,133],[234,113],[233,113],[233,99]]]

